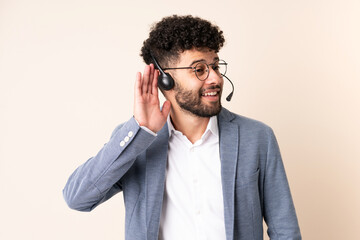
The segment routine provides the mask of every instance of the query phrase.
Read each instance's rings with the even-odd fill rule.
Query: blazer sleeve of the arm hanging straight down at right
[[[271,129],[264,178],[264,220],[271,240],[301,240],[285,168]]]

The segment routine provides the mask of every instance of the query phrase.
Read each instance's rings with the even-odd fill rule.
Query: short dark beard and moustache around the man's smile
[[[174,91],[175,100],[180,108],[190,112],[197,117],[212,117],[218,115],[221,111],[221,90],[219,92],[219,101],[205,104],[201,101],[202,92],[209,89],[221,89],[220,85],[211,86],[199,91],[185,90],[175,82]]]

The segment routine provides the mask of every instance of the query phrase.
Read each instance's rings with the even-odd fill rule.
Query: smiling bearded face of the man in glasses
[[[218,55],[213,51],[187,50],[180,54],[176,67],[193,67],[198,62],[216,64],[217,60]],[[209,71],[208,78],[200,81],[193,69],[171,70],[175,80],[174,98],[182,110],[198,117],[211,117],[220,112],[223,79],[211,65]]]

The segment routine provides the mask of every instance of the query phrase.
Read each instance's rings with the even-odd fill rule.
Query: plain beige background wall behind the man
[[[224,106],[274,129],[303,238],[358,239],[358,0],[0,0],[0,239],[123,239],[121,194],[80,213],[62,188],[132,116],[142,41],[174,13],[224,30]]]

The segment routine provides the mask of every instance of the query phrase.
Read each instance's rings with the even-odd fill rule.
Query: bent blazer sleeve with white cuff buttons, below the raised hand
[[[119,125],[97,155],[69,177],[63,189],[68,206],[79,211],[91,211],[120,192],[122,176],[155,138],[139,127],[133,117]]]

